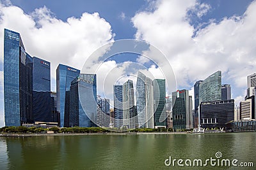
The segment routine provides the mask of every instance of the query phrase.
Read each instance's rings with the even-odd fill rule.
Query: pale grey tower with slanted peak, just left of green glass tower
[[[154,92],[152,80],[138,72],[136,106],[139,127],[154,128]]]

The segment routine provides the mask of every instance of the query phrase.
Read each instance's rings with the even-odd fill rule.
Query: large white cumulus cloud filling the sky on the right
[[[223,18],[219,23],[210,20],[197,31],[189,24],[188,11],[193,9],[202,17],[211,6],[191,0],[161,0],[155,3],[155,10],[136,13],[132,23],[136,38],[157,46],[168,57],[178,88],[190,89],[195,81],[221,70],[223,83],[232,85],[236,98],[244,94],[246,76],[255,72],[255,8],[254,1],[243,16]]]

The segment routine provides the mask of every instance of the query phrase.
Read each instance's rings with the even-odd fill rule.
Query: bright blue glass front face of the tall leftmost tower
[[[19,33],[4,29],[4,120],[6,126],[20,125],[20,41]]]

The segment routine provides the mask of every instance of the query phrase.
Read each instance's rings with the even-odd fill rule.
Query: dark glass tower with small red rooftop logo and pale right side
[[[173,100],[173,129],[193,128],[192,96],[189,96],[188,90],[177,90],[172,93]]]

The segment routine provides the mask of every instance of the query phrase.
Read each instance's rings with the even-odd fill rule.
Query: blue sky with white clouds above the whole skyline
[[[5,27],[20,32],[26,52],[51,62],[52,90],[56,88],[58,63],[81,69],[86,57],[100,46],[117,39],[136,38],[166,55],[178,89],[189,89],[193,95],[196,80],[221,70],[223,83],[231,84],[232,98],[239,103],[245,94],[246,76],[256,72],[255,7],[255,1],[249,0],[1,1],[0,36],[3,39]],[[0,47],[3,56],[3,42]],[[102,65],[102,72],[129,60],[142,62],[152,73],[159,74],[152,62],[136,57],[111,57]],[[125,74],[129,68],[125,64],[118,67],[113,80]],[[158,64],[166,67],[161,60]],[[3,58],[0,71],[2,126]],[[104,76],[99,76],[99,81],[100,78]],[[111,94],[106,92],[106,97]]]

